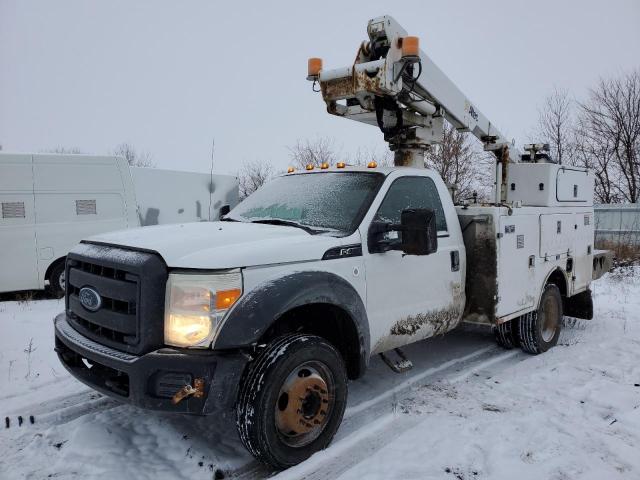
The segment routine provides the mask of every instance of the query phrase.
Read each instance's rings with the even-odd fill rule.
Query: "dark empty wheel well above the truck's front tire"
[[[286,333],[308,333],[324,338],[342,355],[349,378],[355,379],[364,373],[360,364],[358,329],[342,308],[328,303],[296,307],[281,315],[258,343],[268,343]]]

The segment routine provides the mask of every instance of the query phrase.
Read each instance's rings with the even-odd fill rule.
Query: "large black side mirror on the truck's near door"
[[[407,255],[429,255],[438,250],[436,212],[408,208],[400,216],[401,249]]]

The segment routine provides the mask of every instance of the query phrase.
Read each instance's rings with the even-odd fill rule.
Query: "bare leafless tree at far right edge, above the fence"
[[[607,174],[620,199],[640,199],[640,69],[618,78],[601,79],[580,104],[581,128],[606,151]],[[606,147],[606,150],[605,150]],[[614,168],[611,168],[611,167]],[[616,178],[617,177],[617,178]]]

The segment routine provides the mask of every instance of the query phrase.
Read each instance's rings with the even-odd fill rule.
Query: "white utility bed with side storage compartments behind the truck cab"
[[[564,277],[563,296],[588,288],[593,207],[456,210],[467,254],[466,321],[499,324],[536,309],[550,274]]]

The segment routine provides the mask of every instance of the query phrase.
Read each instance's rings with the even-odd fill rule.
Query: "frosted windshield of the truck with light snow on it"
[[[384,176],[374,172],[322,172],[275,178],[224,219],[290,224],[313,231],[352,233]]]

